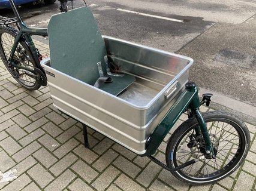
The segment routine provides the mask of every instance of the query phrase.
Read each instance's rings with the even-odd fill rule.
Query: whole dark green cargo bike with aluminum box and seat
[[[14,38],[37,34],[37,29],[22,27]],[[35,81],[47,77],[54,106],[83,124],[85,146],[90,127],[189,184],[222,180],[245,160],[250,143],[246,125],[230,113],[200,112],[212,94],[203,94],[200,101],[195,83],[188,81],[192,58],[101,36],[88,7],[51,17],[47,32],[41,32],[49,36],[50,58],[41,66],[12,61],[5,33],[0,29],[5,66],[16,71],[16,79],[21,70]],[[165,165],[153,155],[183,113],[188,120],[171,134]]]

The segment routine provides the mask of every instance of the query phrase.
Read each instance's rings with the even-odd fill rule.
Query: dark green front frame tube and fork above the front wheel
[[[146,143],[146,153],[141,156],[150,156],[156,152],[156,149],[158,149],[159,145],[162,143],[162,140],[164,140],[165,135],[167,135],[167,133],[176,123],[177,119],[179,119],[180,115],[182,115],[182,113],[188,108],[198,121],[198,127],[195,128],[195,130],[203,135],[204,142],[206,144],[206,151],[213,154],[212,142],[207,131],[206,123],[199,111],[199,107],[200,100],[198,97],[197,87],[195,86],[194,82],[188,82],[183,93],[168,110],[162,121],[159,122],[158,126],[155,128],[155,131],[153,131],[152,135],[150,135],[148,138]]]

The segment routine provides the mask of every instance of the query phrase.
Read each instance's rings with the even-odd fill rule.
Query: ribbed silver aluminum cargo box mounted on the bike
[[[107,56],[122,72],[135,76],[119,96],[79,81],[41,61],[53,104],[137,154],[146,152],[149,134],[188,81],[192,58],[103,36]]]

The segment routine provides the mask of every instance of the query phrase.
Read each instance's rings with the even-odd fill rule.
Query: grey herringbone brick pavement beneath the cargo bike
[[[49,52],[46,44],[35,42],[41,53]],[[185,116],[175,126],[183,120]],[[0,61],[0,170],[17,170],[16,179],[0,183],[2,191],[255,190],[256,127],[246,125],[252,143],[245,164],[218,183],[189,186],[91,129],[86,149],[82,124],[53,107],[49,87],[26,91]],[[162,162],[168,137],[156,152]]]

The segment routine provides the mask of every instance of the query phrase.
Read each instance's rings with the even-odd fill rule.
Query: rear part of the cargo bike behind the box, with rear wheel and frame
[[[38,90],[41,85],[47,85],[47,78],[40,65],[42,56],[35,47],[31,35],[47,36],[47,29],[26,26],[14,1],[9,1],[15,17],[9,19],[0,16],[0,56],[11,76],[19,84],[28,90]],[[73,0],[59,2],[61,12],[67,12],[70,5],[73,9]]]

